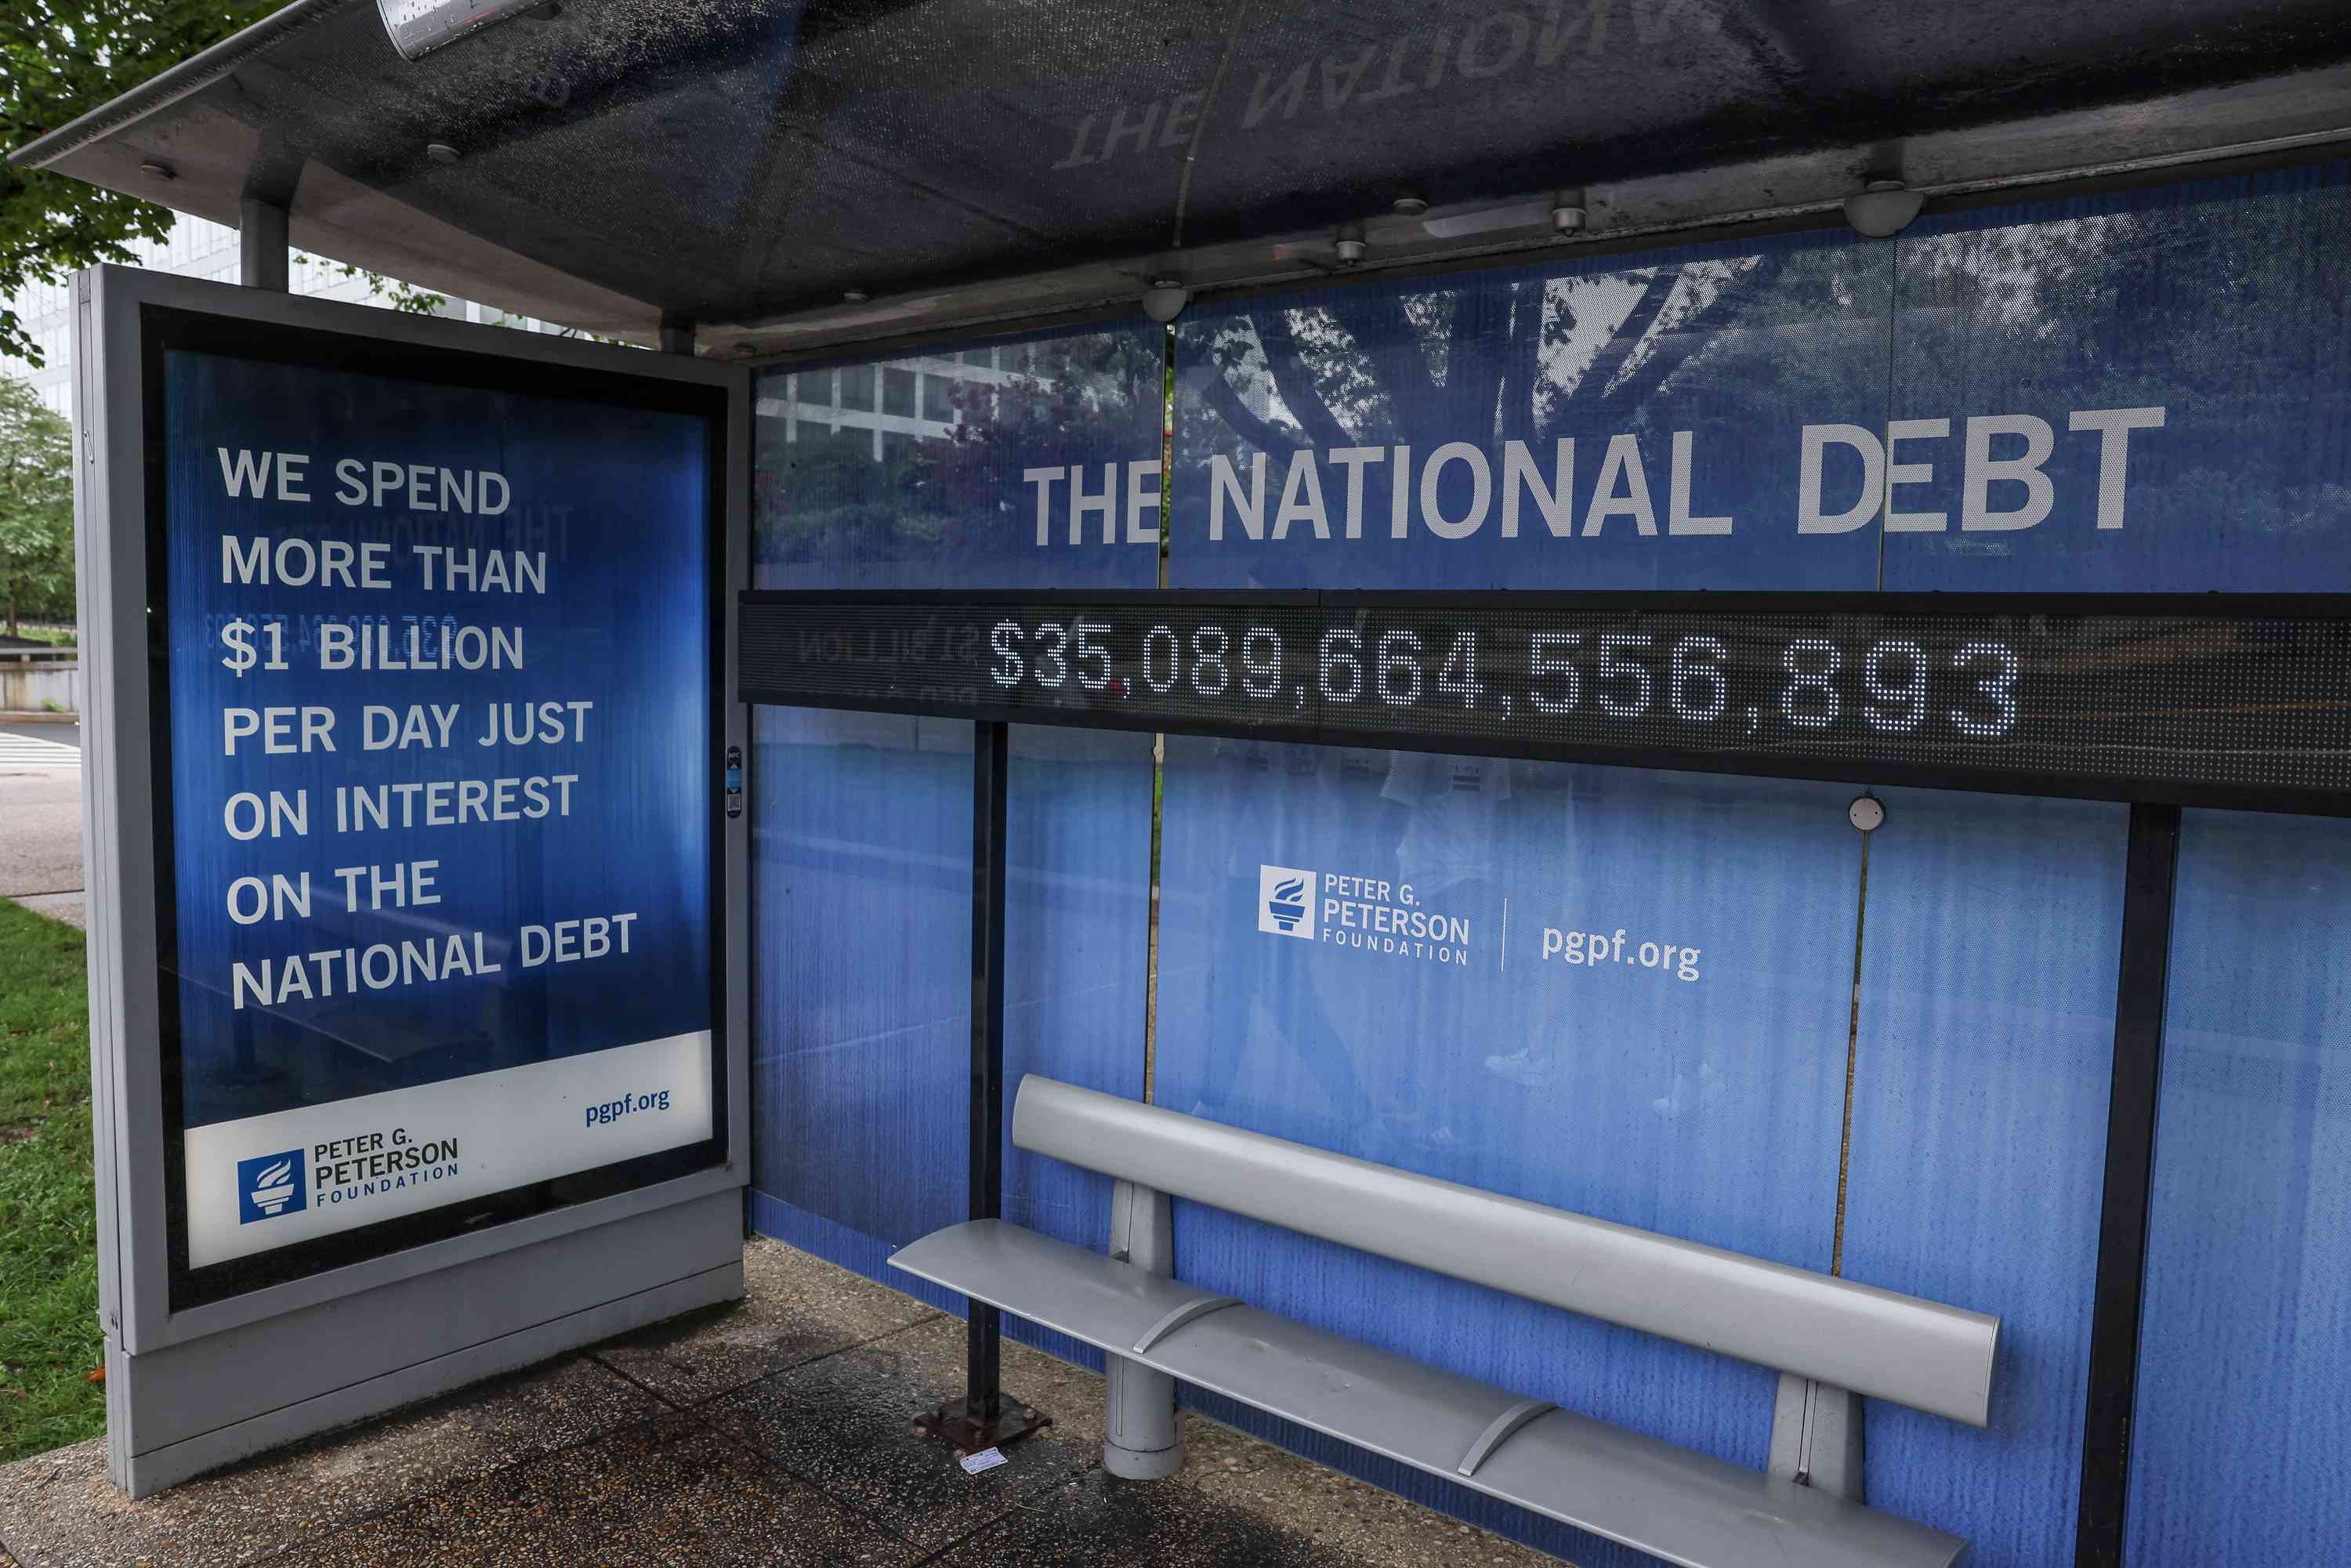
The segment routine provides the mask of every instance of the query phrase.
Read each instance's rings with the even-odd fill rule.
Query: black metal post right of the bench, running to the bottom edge
[[[2114,1088],[2106,1100],[2106,1201],[2090,1302],[2076,1568],[2123,1563],[2177,860],[2179,806],[2132,806],[2130,846],[2123,851],[2123,961],[2114,1004]]]

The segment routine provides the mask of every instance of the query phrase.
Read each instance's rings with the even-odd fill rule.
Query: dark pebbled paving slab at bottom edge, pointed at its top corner
[[[303,1568],[896,1568],[896,1535],[691,1413],[418,1497],[301,1554]]]

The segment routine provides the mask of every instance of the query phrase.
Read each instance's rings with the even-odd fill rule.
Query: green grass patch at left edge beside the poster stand
[[[0,1462],[106,1432],[82,933],[0,898]]]

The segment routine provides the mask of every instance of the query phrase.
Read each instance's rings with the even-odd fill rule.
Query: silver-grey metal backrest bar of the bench
[[[1020,1079],[1013,1145],[1495,1291],[1982,1427],[2001,1319]]]

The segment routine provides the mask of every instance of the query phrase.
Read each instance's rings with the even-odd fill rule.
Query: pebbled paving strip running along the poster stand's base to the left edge
[[[21,1568],[252,1563],[661,1410],[625,1378],[571,1356],[139,1502],[106,1479],[103,1441],[75,1443],[0,1467],[0,1547]]]

